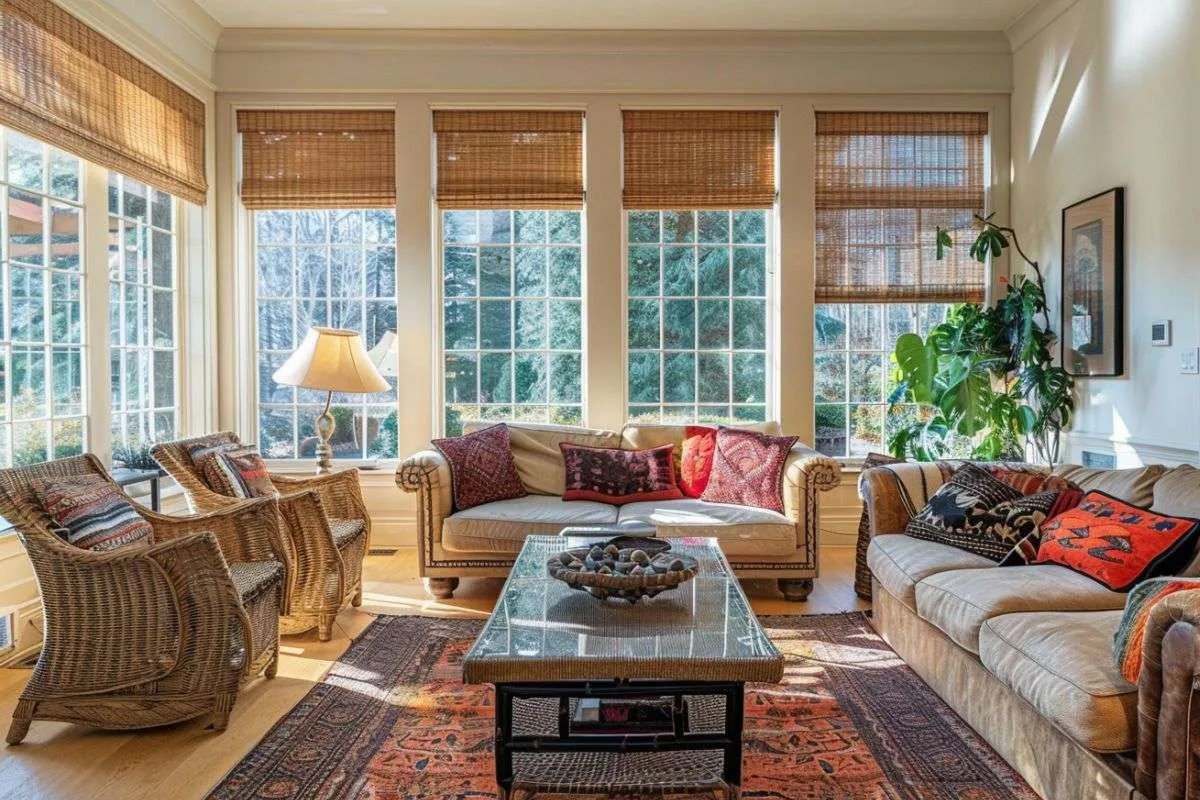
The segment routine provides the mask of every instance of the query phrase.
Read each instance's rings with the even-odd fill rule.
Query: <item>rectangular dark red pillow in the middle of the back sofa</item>
[[[566,471],[564,500],[625,505],[683,498],[674,477],[674,445],[614,450],[564,441],[558,447]]]

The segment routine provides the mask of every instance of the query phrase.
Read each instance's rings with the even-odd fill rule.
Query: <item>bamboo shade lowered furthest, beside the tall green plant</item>
[[[988,115],[817,113],[817,302],[978,302],[984,265],[936,228],[984,210]]]

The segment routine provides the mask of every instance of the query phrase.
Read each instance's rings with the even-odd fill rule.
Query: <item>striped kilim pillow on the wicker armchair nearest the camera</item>
[[[121,488],[101,475],[35,479],[30,488],[62,541],[85,551],[150,545],[154,529]]]

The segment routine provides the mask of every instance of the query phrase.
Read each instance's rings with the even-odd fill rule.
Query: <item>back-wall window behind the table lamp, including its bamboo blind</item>
[[[251,210],[258,443],[308,458],[325,393],[272,375],[310,327],[358,331],[389,389],[335,393],[334,457],[397,456],[395,115],[240,110],[241,200]]]

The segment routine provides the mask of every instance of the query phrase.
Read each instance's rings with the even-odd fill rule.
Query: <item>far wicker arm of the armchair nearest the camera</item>
[[[238,500],[227,509],[187,516],[168,516],[139,507],[154,525],[155,539],[169,541],[194,533],[211,533],[227,561],[281,561],[289,548],[280,525],[275,498]]]

